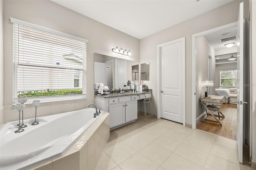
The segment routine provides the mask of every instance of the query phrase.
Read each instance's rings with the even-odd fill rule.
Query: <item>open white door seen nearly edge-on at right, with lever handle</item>
[[[244,3],[240,3],[237,26],[237,150],[238,160],[243,162],[243,64],[244,64]]]

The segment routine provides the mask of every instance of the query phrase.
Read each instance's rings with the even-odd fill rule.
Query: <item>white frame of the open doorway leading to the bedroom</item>
[[[192,35],[192,128],[196,128],[196,38],[205,36],[221,30],[237,27],[237,22],[219,26],[210,30],[206,30]]]

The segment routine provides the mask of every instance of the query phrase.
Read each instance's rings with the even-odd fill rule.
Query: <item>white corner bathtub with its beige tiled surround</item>
[[[28,125],[25,131],[19,133],[16,139],[10,139],[8,142],[6,142],[6,137],[10,136],[4,133],[5,127],[12,125],[9,128],[10,134],[12,134],[12,131],[15,130],[13,124],[16,124],[17,121],[7,123],[1,130],[1,170],[4,168],[28,169],[42,163],[32,169],[94,169],[109,138],[109,113],[104,112],[97,118],[93,118],[93,113],[95,113],[95,109],[88,108],[39,117],[40,123],[36,126],[30,125],[32,119],[25,120],[24,123]],[[60,118],[55,119],[58,116]],[[50,123],[48,122],[49,117],[52,119]],[[89,120],[88,117],[92,119]],[[86,120],[89,120],[92,125],[86,124]],[[16,135],[14,132],[13,134]],[[48,139],[48,142],[45,139]],[[8,145],[13,147],[10,148]],[[5,150],[9,150],[9,152],[5,152]],[[42,150],[44,152],[40,152]],[[36,153],[36,156],[26,158],[29,154],[25,155],[24,153]],[[7,159],[3,157],[4,155],[10,156],[9,165],[6,162]]]

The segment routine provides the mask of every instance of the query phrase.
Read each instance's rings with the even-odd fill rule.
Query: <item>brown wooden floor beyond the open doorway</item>
[[[220,117],[220,123],[222,123],[222,127],[199,121],[196,123],[196,128],[236,140],[236,105],[222,104],[220,106],[220,111],[225,116],[224,118]],[[212,113],[218,115],[217,112]],[[208,119],[214,120],[210,114]]]

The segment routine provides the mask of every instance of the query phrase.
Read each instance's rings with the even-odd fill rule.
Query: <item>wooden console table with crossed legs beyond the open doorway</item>
[[[214,115],[207,107],[207,105],[222,105],[223,101],[224,101],[225,97],[224,96],[219,96],[219,95],[209,95],[208,97],[201,97],[200,101],[202,106],[206,109],[206,111],[208,111],[212,117],[216,120],[216,121],[210,121],[208,119],[203,118],[201,121],[202,122],[206,122],[206,123],[211,123],[213,125],[219,125],[222,126],[222,124],[220,123],[220,121],[215,117],[216,115]],[[221,116],[220,117],[225,117],[221,112],[220,112]]]

